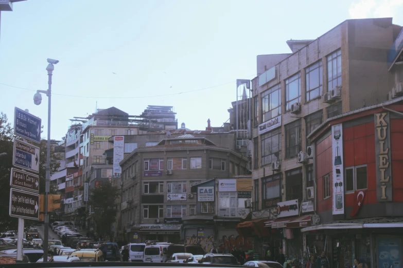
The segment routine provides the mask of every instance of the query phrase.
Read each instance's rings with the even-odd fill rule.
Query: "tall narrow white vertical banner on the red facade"
[[[333,215],[344,214],[343,124],[331,126]],[[330,179],[329,179],[330,180]]]

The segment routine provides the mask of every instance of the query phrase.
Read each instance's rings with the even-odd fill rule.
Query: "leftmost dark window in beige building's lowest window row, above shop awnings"
[[[262,188],[262,208],[273,207],[280,200],[281,173],[263,178]]]

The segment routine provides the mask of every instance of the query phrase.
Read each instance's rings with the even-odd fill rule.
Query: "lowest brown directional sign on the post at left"
[[[10,217],[39,220],[39,195],[11,188]]]

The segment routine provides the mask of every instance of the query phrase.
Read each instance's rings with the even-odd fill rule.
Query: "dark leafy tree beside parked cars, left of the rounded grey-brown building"
[[[91,190],[89,204],[94,207],[94,219],[97,224],[97,232],[111,237],[112,224],[116,220],[119,190],[116,186],[106,182]]]

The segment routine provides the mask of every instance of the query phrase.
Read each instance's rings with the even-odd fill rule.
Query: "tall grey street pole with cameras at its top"
[[[59,61],[47,59],[49,63],[46,67],[47,75],[48,75],[48,89],[47,90],[37,90],[37,93],[34,95],[34,103],[39,105],[41,104],[40,93],[45,93],[48,97],[48,111],[47,111],[47,150],[46,150],[46,180],[45,180],[45,226],[44,226],[44,235],[43,235],[43,262],[47,262],[47,248],[48,248],[48,239],[49,239],[49,214],[48,210],[48,195],[50,192],[50,114],[51,114],[51,92],[52,92],[52,73],[55,69],[53,64],[57,64]],[[39,94],[39,96],[38,96]],[[37,100],[37,101],[36,101]],[[39,100],[39,101],[38,101]]]

